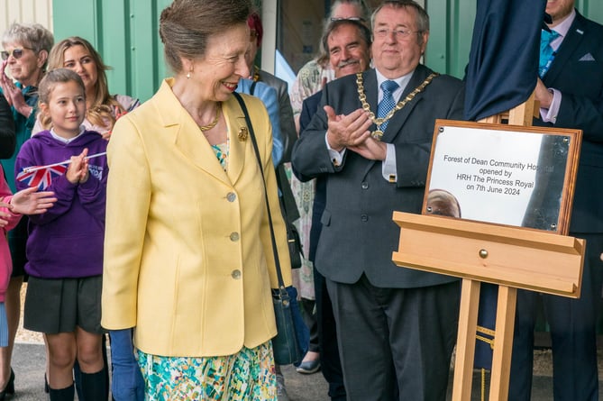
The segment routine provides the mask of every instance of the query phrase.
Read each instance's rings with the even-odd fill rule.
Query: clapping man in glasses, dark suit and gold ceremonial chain
[[[374,68],[324,87],[292,162],[326,181],[315,262],[333,301],[348,400],[444,400],[459,283],[392,262],[392,212],[420,213],[434,120],[462,118],[464,88],[419,64],[429,17],[416,2],[385,1],[371,25]]]

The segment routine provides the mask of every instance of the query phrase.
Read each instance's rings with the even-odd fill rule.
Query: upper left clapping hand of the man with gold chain
[[[328,123],[326,139],[331,149],[342,151],[343,148],[357,147],[370,138],[369,127],[372,121],[364,110],[336,115],[333,107],[325,105],[324,112]]]

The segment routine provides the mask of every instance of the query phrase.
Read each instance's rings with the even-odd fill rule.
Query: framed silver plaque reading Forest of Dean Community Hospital
[[[423,214],[567,234],[580,130],[436,120]]]

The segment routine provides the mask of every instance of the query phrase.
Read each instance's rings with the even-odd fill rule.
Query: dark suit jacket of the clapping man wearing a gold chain
[[[418,87],[432,72],[419,65],[402,96]],[[363,73],[370,109],[377,110],[377,76]],[[319,107],[306,132],[297,140],[292,162],[298,174],[326,178],[323,230],[316,251],[316,266],[324,277],[355,283],[365,273],[377,287],[423,287],[455,278],[397,267],[391,260],[397,250],[399,228],[392,221],[395,210],[420,213],[425,192],[434,120],[459,120],[464,87],[459,79],[435,77],[425,90],[394,114],[382,141],[394,143],[397,183],[381,173],[382,163],[364,159],[350,150],[343,163],[333,166],[324,143],[327,128],[322,105],[336,114],[349,114],[361,107],[356,77],[341,77],[324,87]]]

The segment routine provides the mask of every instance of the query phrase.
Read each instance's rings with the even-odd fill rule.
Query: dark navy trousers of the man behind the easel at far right
[[[599,259],[603,235],[571,235],[587,240],[580,298],[517,291],[509,400],[524,401],[531,396],[537,296],[543,297],[551,331],[555,401],[598,400],[597,320],[603,282],[603,262]]]

